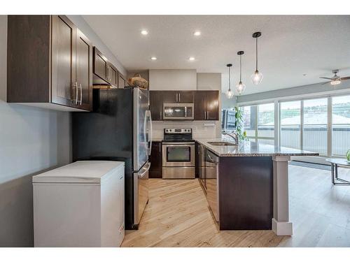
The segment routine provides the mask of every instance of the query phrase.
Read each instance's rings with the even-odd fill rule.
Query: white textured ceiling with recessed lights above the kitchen
[[[244,50],[245,94],[323,82],[330,71],[350,75],[350,15],[83,15],[127,70],[195,68],[223,73],[232,63],[232,88],[239,78],[237,51]],[[142,36],[141,29],[149,34]],[[195,37],[195,30],[202,36]],[[259,38],[260,85],[250,82]],[[158,59],[151,61],[151,57]],[[188,57],[195,61],[188,61]],[[303,74],[307,75],[304,76]]]

